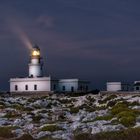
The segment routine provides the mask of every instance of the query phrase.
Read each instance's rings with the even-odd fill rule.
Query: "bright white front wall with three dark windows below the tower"
[[[33,92],[33,91],[51,91],[51,81],[43,78],[18,78],[10,80],[10,92]],[[15,90],[15,85],[18,90]],[[28,90],[25,86],[28,85]],[[37,90],[34,90],[34,85],[37,85]]]

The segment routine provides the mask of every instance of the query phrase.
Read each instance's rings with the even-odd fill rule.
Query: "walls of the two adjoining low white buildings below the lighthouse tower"
[[[15,86],[18,90],[15,90]],[[25,86],[28,85],[28,90]],[[37,85],[37,90],[34,90],[34,85]],[[55,89],[54,89],[55,85]],[[86,91],[86,86],[89,84],[79,81],[78,79],[61,79],[52,80],[50,77],[38,78],[14,78],[10,79],[10,92],[33,92],[33,91],[60,91],[60,92],[73,92]],[[65,86],[65,90],[63,90]],[[82,86],[82,89],[80,87]]]

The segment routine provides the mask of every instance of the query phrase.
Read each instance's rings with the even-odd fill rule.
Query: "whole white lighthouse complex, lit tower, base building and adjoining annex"
[[[30,52],[29,75],[25,78],[11,78],[11,93],[33,92],[85,92],[89,90],[89,82],[79,79],[53,79],[43,76],[43,59],[38,46]]]

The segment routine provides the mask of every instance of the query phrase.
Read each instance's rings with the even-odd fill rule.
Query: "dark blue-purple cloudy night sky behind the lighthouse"
[[[93,88],[140,80],[139,7],[139,0],[1,0],[0,89],[28,75],[23,33],[40,46],[46,75],[87,79]]]

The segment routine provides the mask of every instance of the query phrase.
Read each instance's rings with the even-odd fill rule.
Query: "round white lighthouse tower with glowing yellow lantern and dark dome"
[[[40,49],[35,45],[31,50],[29,63],[29,77],[42,77],[43,63],[41,61]]]

